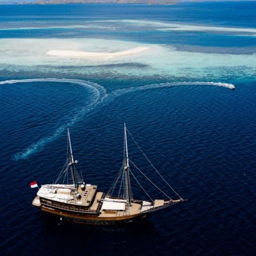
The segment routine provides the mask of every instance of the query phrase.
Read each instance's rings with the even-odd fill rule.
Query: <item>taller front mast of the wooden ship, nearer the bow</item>
[[[124,199],[127,200],[127,208],[131,205],[131,183],[130,183],[130,174],[129,174],[129,156],[128,156],[128,147],[127,147],[127,137],[126,137],[126,126],[124,124],[125,129],[125,161],[124,161],[124,174],[125,174],[125,189],[123,192]]]

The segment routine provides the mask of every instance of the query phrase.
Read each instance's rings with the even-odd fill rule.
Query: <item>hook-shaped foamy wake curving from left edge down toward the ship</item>
[[[49,136],[40,139],[38,142],[31,144],[26,149],[24,149],[22,152],[18,152],[14,155],[14,159],[26,159],[28,156],[34,154],[35,152],[38,152],[40,148],[42,148],[45,144],[53,141],[58,135],[63,133],[64,130],[67,129],[67,127],[71,127],[74,123],[79,121],[86,113],[88,113],[90,110],[92,110],[97,104],[102,102],[102,100],[107,96],[106,90],[103,86],[98,85],[93,82],[88,81],[82,81],[82,80],[76,80],[76,79],[24,79],[24,80],[7,80],[7,81],[1,81],[0,85],[3,84],[17,84],[17,83],[23,83],[23,82],[67,82],[72,84],[78,84],[81,86],[85,86],[86,88],[89,88],[93,90],[94,97],[92,101],[89,103],[89,105],[86,105],[84,108],[80,109],[79,112],[77,112],[75,115],[73,115],[73,118],[71,121],[66,123],[65,125],[60,126],[57,130],[54,131],[54,133]]]

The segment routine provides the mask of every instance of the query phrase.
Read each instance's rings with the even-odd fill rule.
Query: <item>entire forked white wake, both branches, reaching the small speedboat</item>
[[[174,87],[174,86],[185,86],[185,85],[214,85],[214,86],[221,86],[228,89],[235,89],[235,86],[233,84],[226,84],[222,82],[166,82],[163,84],[151,84],[151,85],[143,85],[138,87],[130,87],[127,89],[117,89],[114,90],[109,96],[106,93],[106,90],[103,86],[96,84],[94,82],[89,81],[82,81],[82,80],[76,80],[76,79],[24,79],[24,80],[7,80],[7,81],[0,81],[0,85],[3,84],[17,84],[17,83],[23,83],[23,82],[67,82],[71,84],[77,84],[80,86],[85,86],[86,88],[89,88],[93,90],[94,97],[92,101],[89,103],[89,105],[84,106],[84,108],[80,109],[75,115],[73,115],[73,118],[68,123],[60,126],[57,130],[54,131],[54,133],[49,136],[40,139],[38,142],[31,144],[26,149],[24,149],[22,152],[19,152],[14,155],[14,158],[16,160],[19,159],[26,159],[28,156],[35,154],[35,152],[38,152],[40,148],[42,148],[45,144],[53,141],[58,135],[63,133],[64,130],[67,129],[67,127],[71,127],[74,123],[77,121],[80,121],[82,117],[86,113],[88,113],[90,110],[95,108],[98,104],[100,104],[106,97],[108,97],[108,102],[113,101],[116,97],[122,96],[125,93],[131,93],[131,92],[137,92],[141,90],[148,90],[148,89],[158,89],[158,88],[168,88],[168,87]],[[87,102],[88,103],[88,102]]]

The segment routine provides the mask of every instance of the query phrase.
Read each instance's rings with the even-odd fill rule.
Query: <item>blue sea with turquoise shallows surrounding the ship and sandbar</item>
[[[1,255],[255,255],[255,13],[256,2],[0,5]],[[32,206],[30,182],[63,167],[67,127],[85,182],[108,191],[123,123],[188,201],[113,227]]]

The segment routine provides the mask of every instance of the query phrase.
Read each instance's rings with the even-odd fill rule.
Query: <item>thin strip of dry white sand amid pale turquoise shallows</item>
[[[89,59],[96,57],[99,59],[111,59],[113,57],[133,55],[149,49],[148,47],[136,47],[122,52],[85,52],[85,51],[71,51],[65,49],[53,49],[48,51],[48,55],[60,56],[60,57],[72,57],[76,59]]]

